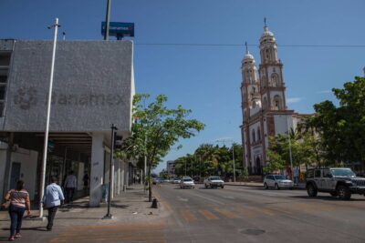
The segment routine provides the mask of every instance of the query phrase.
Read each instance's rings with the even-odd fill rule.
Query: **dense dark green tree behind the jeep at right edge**
[[[314,106],[310,124],[320,136],[323,156],[329,163],[365,161],[365,78],[355,77],[343,88],[333,88],[339,106],[324,101]]]

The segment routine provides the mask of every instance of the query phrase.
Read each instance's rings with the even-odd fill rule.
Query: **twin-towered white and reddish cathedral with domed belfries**
[[[261,63],[258,70],[247,45],[241,66],[243,122],[240,128],[244,166],[254,175],[263,174],[268,160],[269,137],[287,134],[305,116],[287,109],[283,64],[277,56],[276,38],[266,23],[259,48]]]

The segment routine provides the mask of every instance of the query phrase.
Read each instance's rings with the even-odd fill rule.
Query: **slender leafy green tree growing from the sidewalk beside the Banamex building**
[[[147,177],[151,177],[151,168],[157,166],[170,148],[180,138],[189,138],[203,130],[203,123],[189,119],[191,110],[177,106],[169,109],[165,106],[167,96],[156,96],[147,107],[143,102],[150,96],[137,94],[133,98],[132,136],[126,139],[124,148],[131,157],[147,157]],[[151,201],[151,183],[148,184]]]

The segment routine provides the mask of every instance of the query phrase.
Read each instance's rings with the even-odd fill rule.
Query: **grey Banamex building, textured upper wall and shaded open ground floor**
[[[51,41],[0,40],[0,193],[23,179],[38,200]],[[89,174],[89,205],[98,207],[103,185],[114,180],[118,193],[130,181],[130,163],[115,161],[110,172],[110,127],[129,137],[134,95],[133,43],[60,41],[57,43],[49,123],[46,183],[62,184],[70,170]],[[115,183],[114,183],[115,182]]]

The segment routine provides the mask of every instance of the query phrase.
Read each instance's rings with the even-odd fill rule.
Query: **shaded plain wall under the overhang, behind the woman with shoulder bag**
[[[34,199],[36,193],[36,162],[38,159],[38,152],[24,148],[17,148],[12,152],[11,163],[20,163],[20,179],[24,180],[26,190],[29,193],[31,200]],[[12,168],[10,167],[9,173]],[[10,185],[10,184],[9,184]]]

